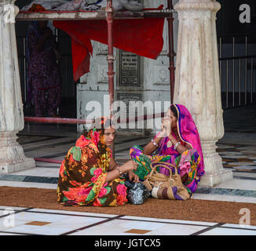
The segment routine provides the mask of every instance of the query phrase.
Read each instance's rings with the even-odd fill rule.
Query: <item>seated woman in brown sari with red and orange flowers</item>
[[[115,128],[108,118],[97,118],[90,131],[79,137],[60,166],[57,202],[64,206],[120,206],[128,202],[125,180],[119,176],[127,172],[130,180],[138,181],[131,172],[137,164],[130,160],[117,165],[109,148],[114,137]]]

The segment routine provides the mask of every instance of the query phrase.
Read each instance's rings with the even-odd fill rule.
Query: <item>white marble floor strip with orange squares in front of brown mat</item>
[[[0,235],[256,235],[256,226],[0,206]]]

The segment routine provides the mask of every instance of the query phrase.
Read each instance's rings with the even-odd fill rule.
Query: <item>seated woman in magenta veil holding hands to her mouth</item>
[[[177,166],[190,195],[196,191],[200,177],[205,173],[199,133],[192,115],[181,104],[170,106],[162,121],[162,131],[144,148],[131,147],[130,157],[139,164],[135,173],[141,180],[151,171],[150,164],[154,161]],[[170,175],[164,167],[159,168],[159,173]]]

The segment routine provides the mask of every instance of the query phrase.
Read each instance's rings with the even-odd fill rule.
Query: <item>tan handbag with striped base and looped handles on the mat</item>
[[[169,170],[170,176],[156,171],[157,167],[164,167]],[[181,181],[177,173],[177,167],[168,162],[152,162],[151,173],[148,174],[143,184],[151,191],[153,198],[167,198],[173,200],[188,200],[191,195]],[[173,174],[172,169],[175,170]]]

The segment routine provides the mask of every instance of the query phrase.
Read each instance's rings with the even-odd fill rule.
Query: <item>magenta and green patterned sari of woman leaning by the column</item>
[[[144,177],[151,171],[150,164],[154,161],[169,162],[177,166],[177,171],[181,177],[185,174],[188,175],[185,186],[188,191],[194,193],[201,176],[205,173],[199,133],[188,109],[181,104],[173,104],[173,106],[177,110],[177,133],[181,139],[181,144],[183,146],[188,144],[192,149],[180,154],[174,150],[174,145],[168,147],[169,138],[166,136],[160,140],[159,148],[153,155],[144,155],[142,147],[134,146],[130,148],[130,158],[139,164],[135,173],[141,180],[144,180]],[[174,133],[172,135],[175,137]],[[155,137],[157,136],[158,134]],[[168,169],[162,167],[158,171],[166,176],[170,174]]]

